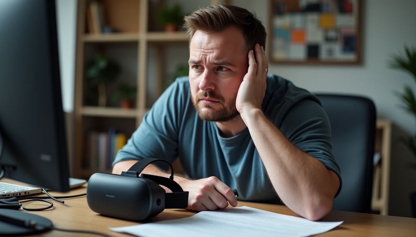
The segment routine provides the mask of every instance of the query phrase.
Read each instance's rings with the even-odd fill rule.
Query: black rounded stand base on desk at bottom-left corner
[[[8,217],[10,221],[1,220],[4,217]],[[37,225],[35,227],[25,227],[23,225],[12,224],[12,221],[35,221]],[[36,232],[42,232],[50,230],[52,227],[52,221],[31,213],[26,213],[19,210],[0,209],[0,236],[9,235],[29,235]]]

